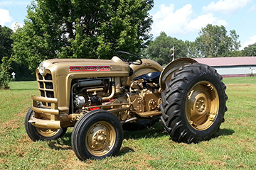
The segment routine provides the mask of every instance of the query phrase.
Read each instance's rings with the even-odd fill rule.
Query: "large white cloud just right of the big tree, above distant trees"
[[[216,18],[213,13],[204,14],[193,19],[194,13],[191,4],[187,4],[175,11],[174,4],[161,8],[153,16],[151,33],[156,37],[161,31],[167,35],[175,37],[176,35],[184,35],[191,32],[198,33],[201,28],[206,27],[208,23],[213,25],[227,26],[225,20]]]

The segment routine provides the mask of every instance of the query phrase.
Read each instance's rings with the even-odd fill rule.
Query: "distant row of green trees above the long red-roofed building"
[[[224,26],[213,26],[208,24],[201,28],[198,37],[194,41],[183,41],[177,38],[167,36],[161,32],[144,51],[144,55],[159,64],[168,64],[173,60],[171,54],[174,52],[174,58],[190,57],[243,57],[255,56],[256,43],[240,50],[239,35],[235,30],[230,33]],[[174,51],[170,49],[174,47]]]

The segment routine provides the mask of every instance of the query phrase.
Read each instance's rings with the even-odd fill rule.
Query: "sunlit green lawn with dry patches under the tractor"
[[[11,82],[0,91],[0,169],[256,169],[256,77],[226,78],[228,112],[220,131],[198,144],[170,140],[160,123],[124,132],[117,157],[80,162],[70,137],[32,142],[23,120],[38,94],[36,81]]]

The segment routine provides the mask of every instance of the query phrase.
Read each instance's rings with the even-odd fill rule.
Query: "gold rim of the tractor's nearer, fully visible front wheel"
[[[91,154],[102,157],[110,152],[115,140],[116,132],[113,126],[102,121],[93,124],[87,131],[85,145]]]

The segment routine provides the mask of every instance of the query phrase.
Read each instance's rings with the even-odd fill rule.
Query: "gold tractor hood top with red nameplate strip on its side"
[[[68,74],[88,74],[88,77],[106,77],[106,74],[127,76],[129,64],[122,62],[118,57],[113,57],[112,60],[51,59],[41,62],[38,72],[42,75],[51,72],[57,77]],[[100,74],[104,74],[104,76],[100,76]]]

